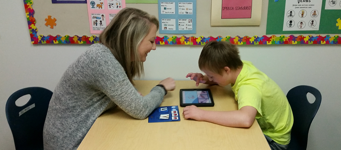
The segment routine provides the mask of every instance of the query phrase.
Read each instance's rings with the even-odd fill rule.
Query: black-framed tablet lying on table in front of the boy
[[[210,89],[180,89],[180,106],[213,107]]]

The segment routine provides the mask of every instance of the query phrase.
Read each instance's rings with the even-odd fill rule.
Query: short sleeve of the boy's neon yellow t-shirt
[[[262,93],[256,87],[243,85],[238,90],[238,110],[244,106],[251,106],[257,110],[256,118],[263,116],[261,111]]]

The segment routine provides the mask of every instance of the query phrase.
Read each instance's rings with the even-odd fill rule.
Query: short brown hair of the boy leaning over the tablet
[[[207,69],[220,75],[224,67],[237,70],[243,66],[237,46],[224,41],[207,42],[198,62],[200,70]]]

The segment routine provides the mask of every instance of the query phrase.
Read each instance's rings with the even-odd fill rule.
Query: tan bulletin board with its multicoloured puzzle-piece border
[[[278,2],[281,1],[284,0]],[[267,34],[268,5],[271,5],[271,2],[273,0],[262,1],[259,26],[211,26],[211,1],[197,0],[196,34],[166,35],[158,32],[155,42],[161,45],[204,45],[212,40],[230,41],[239,45],[341,44],[341,37],[338,33]],[[127,3],[126,6],[139,8],[158,17],[158,4]],[[24,7],[32,44],[92,44],[99,42],[99,35],[90,34],[86,4],[52,4],[51,0],[24,0]],[[51,16],[52,19],[56,18],[54,29],[45,25],[47,16]],[[341,30],[338,31],[340,33]]]

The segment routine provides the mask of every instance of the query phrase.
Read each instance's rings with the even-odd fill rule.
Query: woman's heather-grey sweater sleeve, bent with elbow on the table
[[[129,81],[123,67],[110,52],[97,52],[91,65],[91,85],[108,96],[130,116],[145,119],[158,107],[165,91],[154,87],[146,96],[141,96]]]

